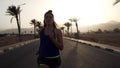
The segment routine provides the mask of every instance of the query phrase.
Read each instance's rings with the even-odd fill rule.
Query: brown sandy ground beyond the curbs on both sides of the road
[[[33,35],[22,36],[22,41],[27,41],[31,39],[34,39]],[[120,33],[80,35],[80,39],[120,47]],[[16,36],[0,37],[0,47],[15,44],[18,42],[19,38]]]

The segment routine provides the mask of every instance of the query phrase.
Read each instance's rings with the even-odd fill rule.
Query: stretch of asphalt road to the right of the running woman
[[[61,68],[120,68],[120,55],[64,40]]]

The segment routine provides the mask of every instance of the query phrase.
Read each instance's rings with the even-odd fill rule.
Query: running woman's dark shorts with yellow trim
[[[50,68],[58,67],[61,64],[61,58],[45,58],[45,57],[38,57],[37,59],[38,65],[48,65]]]

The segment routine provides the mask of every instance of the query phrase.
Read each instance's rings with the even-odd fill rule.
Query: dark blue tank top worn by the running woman
[[[59,49],[50,40],[50,37],[45,35],[44,29],[41,30],[40,34],[40,46],[39,56],[40,57],[53,57],[59,55]]]

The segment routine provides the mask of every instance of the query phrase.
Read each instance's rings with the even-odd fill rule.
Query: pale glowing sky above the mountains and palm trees
[[[16,20],[10,23],[12,16],[6,15],[8,6],[21,5],[21,27],[33,27],[32,19],[43,22],[44,13],[52,10],[55,21],[63,26],[70,18],[79,19],[78,26],[84,30],[85,26],[105,23],[110,20],[120,21],[120,3],[113,6],[115,0],[0,0],[0,31],[17,28]],[[74,23],[72,23],[75,26]],[[75,28],[75,27],[73,27]]]

